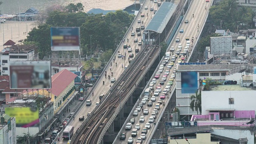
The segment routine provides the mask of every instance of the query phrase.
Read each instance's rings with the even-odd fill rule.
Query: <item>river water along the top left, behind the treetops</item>
[[[118,10],[125,8],[134,0],[0,0],[3,4],[0,6],[2,14],[17,14],[28,10],[31,7],[42,11],[48,6],[59,4],[67,6],[70,3],[81,2],[84,5],[84,12],[92,8],[101,8],[103,10]]]

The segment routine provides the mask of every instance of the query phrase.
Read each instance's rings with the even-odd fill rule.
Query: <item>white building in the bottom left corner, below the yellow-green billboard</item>
[[[10,120],[10,124],[8,120]],[[0,124],[0,144],[16,144],[16,120],[3,114],[3,122]]]

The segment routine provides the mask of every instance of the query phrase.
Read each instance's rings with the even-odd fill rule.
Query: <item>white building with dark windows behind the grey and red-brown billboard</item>
[[[14,45],[4,48],[0,53],[0,67],[2,76],[10,76],[10,61],[30,61],[38,60],[38,54],[35,55],[36,46]]]

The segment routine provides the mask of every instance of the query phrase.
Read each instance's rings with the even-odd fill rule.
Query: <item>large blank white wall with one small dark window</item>
[[[229,104],[234,98],[234,104]],[[202,91],[202,115],[209,114],[207,109],[256,110],[255,91]]]

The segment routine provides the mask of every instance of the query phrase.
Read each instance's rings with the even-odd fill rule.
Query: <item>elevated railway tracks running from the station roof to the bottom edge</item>
[[[147,50],[148,52],[146,52]],[[97,144],[100,134],[106,126],[106,122],[110,120],[110,117],[117,110],[120,102],[124,100],[130,88],[136,84],[148,62],[152,60],[154,55],[158,54],[158,50],[159,48],[154,47],[144,48],[141,51],[140,55],[134,59],[130,68],[125,71],[124,76],[120,77],[121,80],[110,96],[108,96],[106,102],[96,110],[91,120],[85,125],[78,138],[76,138],[75,144]]]

